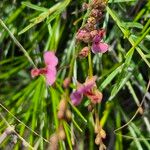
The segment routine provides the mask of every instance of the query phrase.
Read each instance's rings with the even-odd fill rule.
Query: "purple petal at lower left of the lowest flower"
[[[73,105],[79,105],[82,101],[83,95],[79,91],[75,91],[70,95]]]

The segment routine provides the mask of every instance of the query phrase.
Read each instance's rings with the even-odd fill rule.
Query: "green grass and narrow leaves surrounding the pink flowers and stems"
[[[50,145],[51,135],[59,128],[62,84],[76,54],[75,33],[82,20],[74,22],[85,17],[84,2],[88,1],[0,1],[0,149]],[[150,1],[109,0],[101,24],[110,48],[103,55],[92,54],[92,61],[103,93],[96,106],[106,132],[103,142],[110,150],[149,150]],[[33,67],[44,66],[46,50],[55,50],[59,59],[52,87],[46,86],[43,76],[32,79],[30,75]],[[84,82],[87,59],[76,58],[72,67],[73,81]],[[73,88],[71,84],[68,92]],[[72,118],[61,121],[66,138],[59,142],[59,149],[98,149],[88,102],[85,99],[77,107],[69,103]],[[10,125],[13,133],[2,140]]]

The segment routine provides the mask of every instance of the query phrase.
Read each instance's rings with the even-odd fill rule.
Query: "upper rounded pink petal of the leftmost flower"
[[[58,64],[58,58],[55,56],[54,52],[45,52],[44,53],[44,62],[48,66],[55,67]]]

